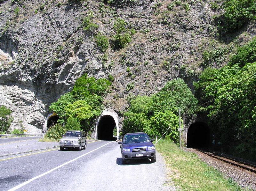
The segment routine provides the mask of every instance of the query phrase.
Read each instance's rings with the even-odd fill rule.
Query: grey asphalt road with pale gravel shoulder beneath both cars
[[[17,157],[17,158],[14,158]],[[0,190],[174,190],[164,186],[166,167],[157,153],[122,165],[120,145],[87,143],[86,150],[59,148],[0,158]]]

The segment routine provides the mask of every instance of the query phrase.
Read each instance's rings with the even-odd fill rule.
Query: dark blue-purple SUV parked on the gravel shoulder
[[[121,148],[122,164],[129,159],[150,158],[156,162],[156,149],[146,133],[126,133],[123,141],[118,142]]]

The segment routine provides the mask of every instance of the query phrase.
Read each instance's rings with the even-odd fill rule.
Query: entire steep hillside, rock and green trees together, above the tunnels
[[[182,114],[207,115],[227,148],[236,143],[230,152],[254,152],[255,0],[0,4],[1,100],[10,106],[16,125],[22,120],[25,128],[42,129],[46,115],[55,111],[61,123],[76,120],[90,129],[106,107],[124,114],[124,132],[138,124],[156,135],[162,133],[157,121],[169,116],[176,130],[177,107],[184,106]],[[98,80],[111,81],[104,99],[102,89],[83,87],[89,78],[78,77],[84,73],[94,77],[96,86]],[[212,101],[196,111],[187,102],[196,105],[190,92],[179,100],[166,87],[178,83],[188,90],[184,82],[199,105]],[[177,139],[171,132],[168,137]]]

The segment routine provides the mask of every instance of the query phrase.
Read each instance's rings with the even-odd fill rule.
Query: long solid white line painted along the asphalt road
[[[113,141],[112,141],[112,142],[113,142]],[[112,142],[109,142],[109,143],[112,143]],[[107,144],[109,144],[109,143],[107,143]],[[96,150],[100,149],[101,147],[106,146],[107,144],[104,144],[104,145],[100,146],[99,148],[94,149],[93,151],[96,151]],[[42,176],[44,176],[44,175],[46,175],[46,174],[49,174],[49,173],[51,173],[52,171],[54,171],[54,170],[56,170],[56,169],[58,169],[58,168],[60,168],[60,167],[62,167],[62,166],[64,166],[64,165],[67,165],[68,163],[71,163],[71,162],[77,160],[78,158],[84,157],[85,155],[88,155],[89,153],[91,153],[91,152],[93,152],[93,151],[87,152],[87,153],[85,153],[85,154],[83,154],[83,155],[81,155],[81,156],[79,156],[79,157],[77,157],[77,158],[74,158],[74,159],[72,159],[72,160],[70,160],[70,161],[68,161],[68,162],[66,162],[66,163],[64,163],[64,164],[62,164],[62,165],[60,165],[60,166],[57,166],[57,167],[55,167],[55,168],[53,168],[53,169],[51,169],[51,170],[49,170],[49,171],[47,171],[47,172],[45,172],[45,173],[43,173],[43,174],[40,174],[40,175],[38,175],[38,176],[36,176],[36,177],[30,179],[30,180],[27,180],[26,182],[23,182],[23,183],[19,184],[18,186],[15,186],[15,187],[11,188],[11,189],[8,190],[8,191],[17,190],[18,188],[25,186],[25,185],[28,184],[29,182],[32,182],[33,180],[36,180],[36,179],[38,179],[38,178],[40,178],[40,177],[42,177]]]

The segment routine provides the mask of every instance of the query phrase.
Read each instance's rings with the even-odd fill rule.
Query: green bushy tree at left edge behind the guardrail
[[[5,133],[9,130],[13,121],[11,114],[11,109],[6,108],[4,105],[0,107],[0,133]]]

